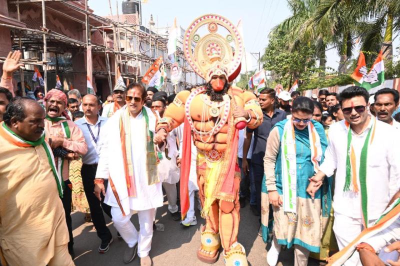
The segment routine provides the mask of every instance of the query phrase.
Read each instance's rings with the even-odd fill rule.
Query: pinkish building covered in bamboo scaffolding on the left
[[[19,49],[25,63],[25,69],[14,74],[16,94],[24,94],[26,89],[45,92],[55,86],[57,75],[64,90],[73,87],[86,93],[87,69],[91,65],[91,83],[105,98],[111,93],[118,67],[125,80],[140,81],[155,58],[166,58],[167,31],[161,34],[151,18],[148,25],[141,24],[140,1],[122,2],[121,14],[118,6],[109,6],[111,15],[107,17],[94,14],[87,0],[0,3],[0,60],[11,49]],[[185,62],[179,47],[176,56],[183,75],[177,86],[167,79],[163,89],[169,93],[202,82]],[[170,63],[164,63],[169,77]],[[41,86],[32,80],[35,68],[44,79]],[[21,84],[25,84],[25,90]]]

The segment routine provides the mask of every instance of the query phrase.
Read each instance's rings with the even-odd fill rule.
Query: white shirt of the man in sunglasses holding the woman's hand
[[[359,161],[361,148],[367,132],[372,125],[372,119],[367,128],[357,135],[352,131],[352,145],[356,155],[357,184],[359,186]],[[392,192],[400,187],[400,153],[396,132],[389,124],[375,120],[375,134],[368,146],[366,189],[368,220],[377,219],[389,202]],[[398,134],[397,134],[398,135]],[[372,137],[372,136],[371,136]],[[329,142],[325,158],[319,169],[327,176],[335,175],[333,210],[337,213],[352,217],[361,217],[360,192],[343,191],[346,176],[347,129],[344,120],[332,124],[329,128]],[[390,180],[391,178],[395,180]],[[389,189],[390,184],[396,184]]]

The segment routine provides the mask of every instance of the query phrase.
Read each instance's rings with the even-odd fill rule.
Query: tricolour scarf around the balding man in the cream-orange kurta
[[[46,141],[44,141],[44,133],[36,141],[28,141],[28,140],[21,138],[15,132],[13,132],[11,129],[9,129],[8,126],[4,122],[1,122],[0,134],[7,141],[9,141],[10,143],[12,143],[18,147],[35,147],[38,145],[42,145],[42,147],[44,148],[44,151],[46,152],[46,155],[47,155],[48,164],[50,164],[51,171],[54,175],[55,183],[57,184],[58,195],[60,197],[62,197],[63,181],[61,179],[61,176],[57,173],[57,171],[55,169],[54,157],[51,152],[50,146],[48,145],[48,143]]]

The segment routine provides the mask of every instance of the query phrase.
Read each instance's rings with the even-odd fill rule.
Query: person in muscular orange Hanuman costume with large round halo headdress
[[[217,33],[218,27],[228,34]],[[200,37],[198,29],[206,33]],[[203,15],[186,29],[183,52],[187,62],[206,83],[176,95],[158,121],[154,142],[165,141],[168,132],[184,123],[180,173],[182,219],[189,206],[191,135],[197,148],[201,215],[206,219],[201,228],[198,259],[214,263],[222,245],[226,265],[247,265],[244,247],[237,242],[240,220],[238,130],[245,126],[257,127],[262,122],[262,112],[253,93],[229,84],[240,70],[242,37],[224,17]]]

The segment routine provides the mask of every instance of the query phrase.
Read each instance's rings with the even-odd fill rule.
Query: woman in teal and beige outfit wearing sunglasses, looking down
[[[281,245],[294,244],[294,265],[307,265],[309,252],[319,252],[320,217],[322,210],[322,216],[329,214],[330,193],[323,200],[322,189],[314,200],[306,193],[308,178],[318,171],[327,146],[322,125],[312,120],[313,111],[311,99],[295,98],[291,118],[276,123],[267,140],[262,209],[272,204],[273,241],[266,258],[270,266],[276,264]]]

